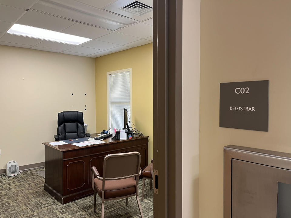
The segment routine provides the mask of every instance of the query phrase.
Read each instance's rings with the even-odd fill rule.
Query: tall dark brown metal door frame
[[[153,0],[154,218],[182,217],[182,0]]]

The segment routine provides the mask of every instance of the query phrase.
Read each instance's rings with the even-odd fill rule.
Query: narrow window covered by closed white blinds
[[[123,128],[123,108],[131,117],[131,68],[107,73],[107,109],[110,133]]]

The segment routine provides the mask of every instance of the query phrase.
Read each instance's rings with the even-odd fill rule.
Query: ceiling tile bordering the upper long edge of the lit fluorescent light
[[[62,31],[75,22],[35,11],[28,11],[16,23],[53,31]]]

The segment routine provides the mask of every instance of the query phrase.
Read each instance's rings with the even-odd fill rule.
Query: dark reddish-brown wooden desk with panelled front
[[[96,134],[91,134],[95,137]],[[103,160],[107,154],[138,151],[140,167],[148,165],[148,136],[127,140],[104,139],[106,143],[78,147],[72,144],[45,145],[44,190],[65,204],[93,194],[91,167],[95,166],[102,177]]]

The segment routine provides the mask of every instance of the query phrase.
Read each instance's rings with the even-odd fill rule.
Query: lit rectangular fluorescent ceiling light
[[[81,36],[75,36],[21,24],[13,24],[12,27],[7,32],[15,35],[45,39],[49,41],[61,42],[71,45],[80,45],[86,41],[91,40],[89,38]]]

